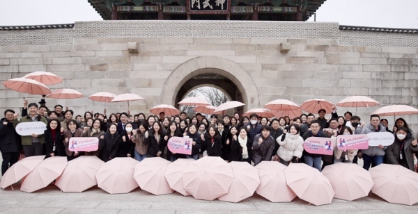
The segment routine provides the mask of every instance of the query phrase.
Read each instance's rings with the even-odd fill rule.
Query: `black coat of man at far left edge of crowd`
[[[6,118],[0,120],[0,151],[1,153],[13,153],[22,150],[21,138],[15,131],[13,122],[6,122]]]

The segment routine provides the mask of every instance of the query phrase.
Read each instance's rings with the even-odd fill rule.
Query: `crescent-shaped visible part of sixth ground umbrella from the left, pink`
[[[169,183],[170,188],[184,196],[190,195],[190,193],[187,192],[183,186],[182,173],[190,165],[190,163],[193,162],[194,159],[192,158],[178,158],[176,161],[169,164],[166,173],[164,174],[164,177]]]

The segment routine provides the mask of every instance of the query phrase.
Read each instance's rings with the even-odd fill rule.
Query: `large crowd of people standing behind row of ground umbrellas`
[[[68,108],[56,105],[53,110],[45,106],[45,101],[28,104],[24,101],[22,117],[14,110],[4,112],[0,122],[0,151],[3,156],[1,173],[19,158],[45,155],[66,156],[68,161],[79,156],[98,156],[106,162],[116,157],[131,157],[142,161],[148,157],[162,157],[169,161],[178,158],[219,156],[226,162],[247,161],[257,165],[261,161],[305,163],[319,171],[333,163],[357,163],[363,159],[363,167],[389,163],[416,170],[414,158],[418,154],[417,140],[403,118],[398,118],[393,129],[389,129],[386,119],[371,115],[370,122],[362,122],[360,117],[350,112],[339,116],[336,108],[332,117],[325,118],[326,111],[318,111],[318,117],[309,113],[293,119],[259,117],[253,113],[242,117],[233,115],[210,115],[200,113],[187,117],[180,115],[166,117],[144,113],[86,112],[75,115]],[[18,120],[19,119],[19,120]],[[43,135],[20,136],[15,126],[21,122],[44,122],[47,129]],[[334,149],[334,154],[311,154],[304,150],[303,142],[309,137],[336,138],[338,135],[366,134],[371,132],[391,132],[395,141],[390,146],[371,146],[357,151]],[[192,139],[192,154],[175,154],[167,149],[167,142],[173,137]],[[74,137],[96,137],[99,139],[97,151],[70,151],[68,142]],[[336,143],[333,144],[336,147]]]

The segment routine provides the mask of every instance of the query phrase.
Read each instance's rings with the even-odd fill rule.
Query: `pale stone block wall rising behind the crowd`
[[[101,111],[103,103],[93,103],[87,98],[100,91],[141,95],[145,101],[130,104],[134,113],[147,111],[157,104],[173,104],[178,88],[204,72],[221,74],[233,81],[247,104],[245,110],[261,107],[273,99],[290,99],[301,104],[307,99],[323,98],[337,103],[350,95],[366,95],[382,105],[418,106],[418,53],[416,44],[408,43],[416,40],[417,34],[381,33],[380,43],[373,43],[369,41],[376,33],[362,31],[348,31],[342,39],[341,35],[338,36],[338,24],[286,22],[279,28],[271,29],[276,22],[245,22],[253,26],[244,31],[239,26],[244,22],[231,22],[235,23],[235,28],[231,26],[235,31],[222,29],[216,24],[227,22],[202,22],[203,26],[208,23],[206,28],[210,31],[208,38],[203,38],[206,32],[203,26],[200,30],[187,30],[190,23],[198,22],[178,22],[187,24],[153,27],[155,38],[150,38],[152,36],[146,34],[151,32],[150,28],[142,28],[143,33],[139,31],[138,26],[144,26],[144,23],[164,22],[77,22],[74,29],[0,31],[0,42],[8,37],[13,37],[9,42],[17,42],[13,46],[0,47],[0,80],[22,77],[38,70],[53,72],[65,81],[52,85],[52,90],[75,88],[86,97],[68,101],[47,99],[48,106],[70,106],[77,114],[86,110]],[[98,25],[103,28],[89,28]],[[319,29],[323,25],[330,31],[320,35]],[[292,26],[294,29],[290,30]],[[315,36],[304,31],[304,28],[314,29],[316,26],[318,34]],[[183,31],[179,31],[180,27]],[[217,30],[214,31],[214,28]],[[57,35],[47,40],[41,35],[42,32],[74,31],[84,32],[84,38],[63,34],[62,37]],[[167,35],[166,31],[182,34],[162,38],[160,33]],[[219,38],[217,31],[223,38]],[[269,38],[269,31],[279,36],[270,35]],[[240,38],[251,35],[250,32],[253,35],[258,32],[264,38]],[[234,33],[237,33],[237,38]],[[353,36],[349,36],[350,33]],[[362,33],[365,39],[357,40],[357,35]],[[112,35],[118,35],[118,38],[111,38]],[[210,38],[215,35],[218,38]],[[398,47],[382,46],[390,44],[383,43],[385,41],[391,42],[384,35],[410,39],[403,40],[404,43],[401,39],[393,39],[392,42],[398,42]],[[34,39],[28,40],[26,36],[33,36]],[[68,41],[63,42],[65,38]],[[379,37],[376,37],[378,40]],[[40,41],[46,42],[45,45]],[[23,44],[20,42],[26,44],[18,45]],[[42,45],[31,45],[31,42]],[[138,42],[139,53],[127,51],[127,42]],[[291,43],[288,53],[279,51],[279,44],[283,42]],[[406,44],[410,47],[403,47]],[[25,96],[1,87],[0,110],[17,110]],[[28,97],[29,101],[39,100],[38,96],[29,94]],[[339,108],[339,113],[357,111],[364,121],[368,121],[368,114],[376,108]],[[107,104],[107,110],[116,112],[127,110],[127,107],[126,104]],[[393,125],[393,117],[388,119]],[[418,128],[415,123],[417,116],[405,119],[413,129]]]

